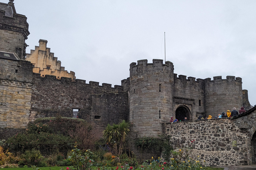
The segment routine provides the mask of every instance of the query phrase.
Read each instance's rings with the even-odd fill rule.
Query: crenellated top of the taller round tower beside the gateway
[[[130,64],[130,69],[134,69],[136,67],[136,69],[142,69],[143,67],[154,67],[155,69],[157,67],[169,67],[170,69],[173,69],[173,63],[170,61],[166,61],[165,64],[163,64],[163,60],[162,59],[153,59],[153,63],[148,63],[147,59],[143,59],[143,60],[138,60],[137,61],[138,64],[136,65],[136,62],[132,62]]]

